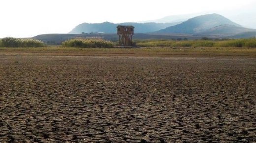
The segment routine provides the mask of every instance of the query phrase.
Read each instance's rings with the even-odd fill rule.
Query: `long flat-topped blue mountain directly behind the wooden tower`
[[[116,33],[117,29],[116,27],[118,25],[132,25],[135,27],[134,32],[135,33],[148,33],[148,32],[154,32],[158,31],[160,29],[164,29],[169,26],[180,24],[181,22],[175,22],[175,23],[119,23],[114,24],[110,22],[104,22],[104,23],[82,23],[76,26],[72,31],[69,32],[69,34],[81,34],[84,33],[97,33],[97,32],[103,32],[103,33]]]

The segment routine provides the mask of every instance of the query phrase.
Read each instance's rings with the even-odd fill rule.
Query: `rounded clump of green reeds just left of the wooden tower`
[[[112,48],[114,43],[103,39],[70,39],[62,43],[63,47]]]

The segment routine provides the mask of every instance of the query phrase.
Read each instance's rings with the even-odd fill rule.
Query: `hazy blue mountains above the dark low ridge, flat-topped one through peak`
[[[177,20],[177,18],[175,19]],[[169,35],[175,33],[205,36],[233,36],[239,33],[256,31],[255,29],[244,28],[222,15],[213,13],[196,16],[186,21],[176,21],[172,23],[82,23],[76,26],[71,32],[69,32],[69,34],[116,33],[116,27],[118,25],[132,25],[135,27],[135,33],[154,33]]]

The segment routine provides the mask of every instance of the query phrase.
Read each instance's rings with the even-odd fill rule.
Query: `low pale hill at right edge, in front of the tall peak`
[[[255,29],[249,29],[244,27],[238,27],[235,25],[219,25],[215,26],[213,28],[210,28],[209,30],[206,30],[201,33],[197,33],[198,35],[223,35],[223,36],[229,36],[229,35],[236,35],[239,33],[244,32],[252,32],[256,31]]]

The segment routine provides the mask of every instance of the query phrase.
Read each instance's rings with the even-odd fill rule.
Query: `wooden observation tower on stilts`
[[[132,46],[132,35],[134,34],[133,26],[117,26],[120,46]]]

